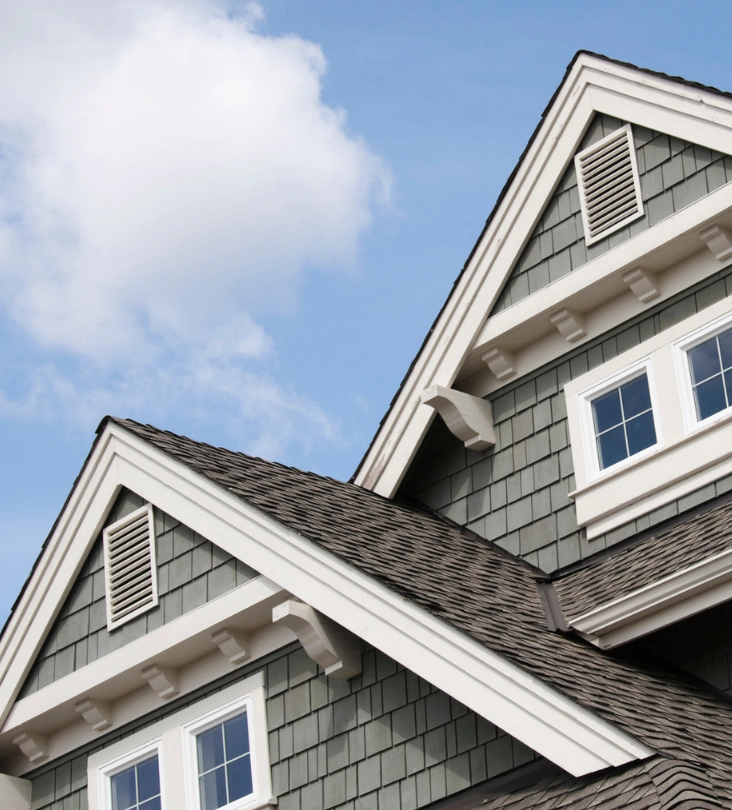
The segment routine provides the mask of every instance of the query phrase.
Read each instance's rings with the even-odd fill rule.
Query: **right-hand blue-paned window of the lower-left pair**
[[[236,701],[184,729],[196,810],[245,807],[254,793],[248,703]]]

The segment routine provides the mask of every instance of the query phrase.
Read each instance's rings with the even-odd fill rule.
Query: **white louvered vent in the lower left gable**
[[[103,536],[107,629],[113,630],[158,604],[152,505],[107,526]]]

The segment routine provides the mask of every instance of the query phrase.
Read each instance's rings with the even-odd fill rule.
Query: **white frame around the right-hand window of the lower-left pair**
[[[198,785],[198,755],[196,751],[196,735],[210,728],[224,723],[232,717],[236,717],[242,712],[247,713],[247,726],[249,728],[249,762],[252,769],[252,793],[236,799],[229,804],[222,805],[220,810],[248,810],[250,807],[261,807],[259,804],[259,785],[257,779],[257,751],[253,743],[254,740],[254,715],[255,709],[251,695],[244,695],[237,700],[227,703],[224,706],[214,709],[190,723],[183,726],[183,751],[184,769],[186,773],[186,790],[188,803],[187,808],[192,810],[203,810],[201,807],[201,792]]]

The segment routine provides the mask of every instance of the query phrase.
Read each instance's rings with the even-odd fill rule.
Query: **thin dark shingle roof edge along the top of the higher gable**
[[[601,53],[595,53],[594,51],[582,50],[581,49],[581,50],[577,51],[577,53],[575,53],[575,55],[572,57],[572,61],[567,65],[567,68],[564,71],[564,76],[562,76],[562,80],[559,82],[559,85],[557,86],[557,89],[554,91],[554,93],[552,94],[552,97],[549,99],[548,104],[544,108],[544,111],[541,114],[541,118],[539,119],[539,122],[537,123],[534,131],[531,133],[531,135],[529,137],[529,140],[527,141],[526,146],[524,147],[523,152],[519,156],[518,162],[514,166],[513,171],[511,172],[511,174],[508,176],[508,179],[504,183],[503,188],[498,193],[498,197],[496,198],[496,202],[493,205],[493,208],[491,209],[490,213],[488,214],[488,218],[485,221],[485,225],[483,226],[480,234],[478,235],[478,238],[476,239],[475,244],[473,245],[472,249],[470,250],[470,253],[468,254],[467,258],[465,259],[465,262],[464,262],[462,268],[460,269],[460,272],[458,273],[457,277],[455,278],[455,281],[453,281],[450,292],[447,295],[444,304],[440,308],[440,311],[437,313],[434,321],[432,322],[432,325],[430,326],[429,330],[427,331],[427,334],[425,335],[424,340],[422,341],[422,343],[421,343],[421,345],[419,347],[419,350],[417,351],[417,354],[414,356],[414,359],[409,364],[409,368],[407,368],[407,371],[404,374],[404,377],[402,378],[401,382],[399,383],[399,386],[397,387],[397,390],[395,391],[394,396],[392,397],[392,399],[391,399],[391,401],[389,403],[389,407],[386,409],[386,412],[384,413],[381,420],[379,421],[379,425],[378,425],[378,427],[377,427],[371,441],[369,442],[369,445],[366,448],[366,451],[364,452],[363,456],[361,457],[361,460],[359,461],[356,469],[353,472],[353,475],[351,476],[351,479],[350,479],[351,481],[355,480],[356,476],[359,473],[359,470],[361,469],[364,462],[366,461],[366,459],[367,459],[367,457],[369,455],[369,452],[371,451],[371,448],[373,447],[374,442],[376,441],[376,439],[377,439],[377,437],[379,435],[379,432],[381,431],[381,428],[384,425],[384,422],[386,421],[387,417],[389,416],[389,413],[391,412],[391,409],[394,407],[394,404],[396,403],[397,399],[399,398],[399,395],[402,392],[402,389],[404,388],[407,380],[409,379],[409,377],[410,377],[410,375],[412,373],[412,370],[413,370],[417,360],[419,359],[419,356],[422,354],[422,351],[426,347],[426,345],[427,345],[427,343],[428,343],[428,341],[430,339],[430,336],[432,335],[433,331],[435,330],[435,327],[437,326],[437,323],[440,320],[440,318],[442,316],[442,313],[447,308],[447,306],[448,306],[448,304],[450,302],[450,299],[452,298],[453,294],[455,293],[455,290],[457,289],[457,287],[458,287],[458,285],[460,283],[460,280],[461,280],[463,274],[465,273],[465,271],[466,271],[466,269],[467,269],[467,267],[468,267],[468,265],[470,263],[470,260],[473,258],[473,255],[474,255],[475,251],[478,249],[478,247],[479,247],[479,245],[480,245],[480,243],[481,243],[481,241],[483,239],[483,236],[485,235],[486,231],[488,230],[488,227],[490,226],[493,218],[495,217],[496,213],[498,212],[498,209],[500,208],[501,203],[503,202],[504,198],[506,197],[506,195],[507,195],[507,193],[508,193],[508,191],[509,191],[509,189],[511,187],[511,184],[513,183],[516,175],[518,174],[518,172],[519,172],[519,170],[521,168],[521,165],[523,164],[523,162],[524,162],[524,160],[525,160],[525,158],[526,158],[526,156],[527,156],[527,154],[528,154],[528,152],[529,152],[529,150],[531,148],[531,145],[536,140],[536,137],[538,136],[538,134],[539,134],[539,132],[541,130],[541,127],[542,127],[542,125],[544,123],[544,119],[546,118],[549,110],[552,108],[552,105],[554,104],[555,99],[557,98],[557,96],[561,92],[562,87],[564,86],[565,82],[567,81],[567,78],[569,77],[570,73],[572,72],[572,68],[574,67],[575,63],[583,55],[584,56],[592,56],[592,57],[595,57],[596,59],[602,59],[603,61],[605,61],[605,62],[607,62],[608,64],[611,64],[611,65],[620,65],[621,67],[631,68],[633,70],[637,70],[640,73],[645,73],[648,76],[655,76],[656,78],[666,79],[668,81],[674,82],[675,84],[681,84],[681,85],[684,85],[686,87],[693,87],[693,88],[695,88],[697,90],[704,90],[705,92],[714,93],[715,95],[722,96],[723,98],[732,99],[732,93],[726,92],[724,90],[720,90],[717,87],[712,87],[711,85],[702,84],[700,82],[690,81],[688,79],[684,79],[681,76],[670,76],[669,74],[663,73],[663,72],[660,72],[660,71],[651,70],[649,68],[638,67],[637,65],[634,65],[631,62],[623,62],[623,61],[621,61],[619,59],[611,59],[609,56],[605,56],[605,55],[603,55]]]

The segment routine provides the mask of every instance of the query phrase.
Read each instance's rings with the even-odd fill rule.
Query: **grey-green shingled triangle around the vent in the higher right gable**
[[[626,121],[598,113],[577,152]],[[566,276],[631,237],[732,180],[732,157],[662,132],[633,125],[644,216],[585,246],[574,161],[564,172],[526,247],[519,255],[491,315]]]

